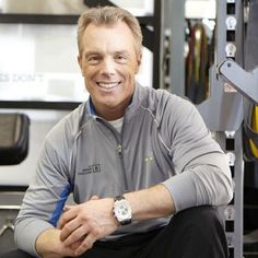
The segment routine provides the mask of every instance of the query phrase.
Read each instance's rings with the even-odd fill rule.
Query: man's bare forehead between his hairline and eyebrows
[[[131,30],[125,22],[108,25],[89,24],[82,37],[82,47],[87,49],[127,49],[134,48]]]

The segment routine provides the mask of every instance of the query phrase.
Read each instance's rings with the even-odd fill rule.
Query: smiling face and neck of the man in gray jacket
[[[124,115],[134,90],[141,54],[124,22],[90,24],[83,35],[79,64],[98,115],[117,119]],[[109,114],[114,114],[108,117]]]

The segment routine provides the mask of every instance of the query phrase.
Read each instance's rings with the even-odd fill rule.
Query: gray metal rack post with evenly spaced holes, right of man
[[[218,33],[216,33],[216,64],[225,58],[233,58],[243,66],[243,45],[244,45],[244,17],[242,0],[218,0]],[[228,46],[235,47],[235,54],[228,51]],[[225,83],[222,86],[225,91]],[[230,85],[228,85],[230,86]],[[224,94],[231,94],[224,92]],[[239,98],[241,99],[241,98]],[[243,108],[243,101],[238,105]],[[225,110],[228,112],[228,110]],[[232,110],[234,113],[234,110]],[[233,125],[231,126],[232,130]],[[233,144],[228,144],[233,142]],[[225,152],[228,156],[233,183],[234,198],[224,209],[225,230],[230,247],[230,258],[243,257],[243,192],[244,192],[244,160],[243,160],[243,139],[242,127],[235,133],[225,131]]]

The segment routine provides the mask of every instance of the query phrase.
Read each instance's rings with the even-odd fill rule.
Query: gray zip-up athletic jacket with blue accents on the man
[[[167,91],[137,85],[119,133],[94,114],[89,99],[46,137],[16,219],[17,247],[37,256],[36,237],[56,226],[71,192],[82,203],[93,195],[115,197],[160,183],[168,188],[177,212],[226,204],[232,198],[226,156],[196,107]],[[168,220],[133,222],[107,239],[150,231]]]

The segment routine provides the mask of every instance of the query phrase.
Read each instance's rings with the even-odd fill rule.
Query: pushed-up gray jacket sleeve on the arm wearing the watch
[[[176,175],[164,181],[176,212],[196,206],[222,206],[233,197],[227,157],[212,139],[196,107],[179,99],[165,118]]]

